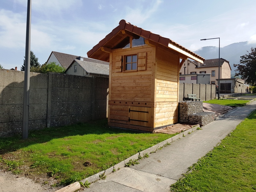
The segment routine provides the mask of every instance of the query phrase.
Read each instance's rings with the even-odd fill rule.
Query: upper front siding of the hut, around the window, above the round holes
[[[143,53],[147,57],[146,70],[117,72],[119,68],[116,58],[125,55]],[[141,56],[140,56],[141,57]],[[131,49],[114,50],[112,53],[111,100],[152,102],[152,66],[153,49],[141,46]]]

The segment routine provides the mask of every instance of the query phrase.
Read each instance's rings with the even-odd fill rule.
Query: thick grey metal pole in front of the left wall
[[[26,29],[26,51],[25,51],[25,66],[24,66],[25,67],[25,74],[24,74],[24,94],[23,94],[22,139],[27,139],[28,138],[31,4],[32,4],[32,0],[28,0],[27,29]]]

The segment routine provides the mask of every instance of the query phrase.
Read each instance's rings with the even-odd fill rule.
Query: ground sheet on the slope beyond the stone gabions
[[[229,110],[235,107],[225,106],[225,105],[218,105],[218,104],[210,104],[210,103],[203,103],[203,111],[204,112],[214,112],[215,116],[222,115],[227,113]]]

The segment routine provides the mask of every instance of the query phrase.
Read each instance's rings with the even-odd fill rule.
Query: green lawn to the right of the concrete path
[[[256,191],[256,111],[189,169],[170,191]]]

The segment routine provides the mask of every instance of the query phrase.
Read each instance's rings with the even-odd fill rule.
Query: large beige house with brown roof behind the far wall
[[[217,84],[219,78],[219,58],[206,59],[204,63],[187,60],[180,68],[180,75],[187,74],[211,74],[210,84]],[[231,78],[229,61],[220,58],[220,79]]]

